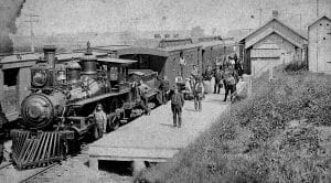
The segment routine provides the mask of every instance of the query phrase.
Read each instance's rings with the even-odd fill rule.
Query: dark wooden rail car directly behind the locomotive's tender
[[[179,40],[182,41],[182,40]],[[164,42],[162,42],[164,43]],[[189,78],[193,65],[196,65],[201,71],[202,68],[202,50],[200,44],[192,44],[182,42],[171,42],[171,46],[157,46],[157,47],[135,47],[129,45],[109,45],[92,47],[96,53],[107,53],[116,58],[135,60],[129,66],[130,69],[151,69],[158,73],[159,77],[167,76],[170,82],[170,88],[174,88],[175,77],[180,73],[180,55],[182,54],[186,61],[183,68],[183,77]],[[163,45],[163,44],[162,44]],[[75,52],[85,52],[85,50],[77,50]]]

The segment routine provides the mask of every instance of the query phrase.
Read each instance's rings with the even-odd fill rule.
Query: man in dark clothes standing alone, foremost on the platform
[[[184,106],[184,96],[174,88],[174,94],[171,97],[171,111],[173,116],[173,127],[181,128],[182,125],[182,107]]]

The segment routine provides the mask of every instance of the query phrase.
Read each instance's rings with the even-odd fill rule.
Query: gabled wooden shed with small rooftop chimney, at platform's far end
[[[277,18],[239,40],[244,45],[244,73],[258,76],[263,72],[291,61],[303,61],[307,39]]]

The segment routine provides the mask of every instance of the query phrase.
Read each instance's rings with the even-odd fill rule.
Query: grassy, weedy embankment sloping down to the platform
[[[331,76],[277,69],[147,182],[331,182]],[[303,120],[306,119],[306,120]]]

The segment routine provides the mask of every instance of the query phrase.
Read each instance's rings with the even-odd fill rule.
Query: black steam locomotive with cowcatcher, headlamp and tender
[[[19,169],[65,159],[85,137],[98,139],[90,115],[103,105],[107,130],[115,130],[143,112],[141,95],[150,108],[161,104],[158,73],[129,69],[134,60],[97,58],[89,46],[79,61],[57,63],[55,46],[31,68],[31,95],[21,104],[21,129],[11,130],[12,159]],[[138,88],[138,83],[146,87]]]

